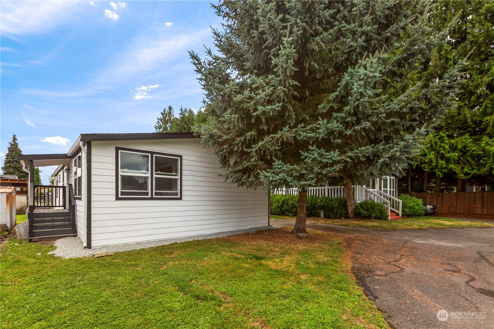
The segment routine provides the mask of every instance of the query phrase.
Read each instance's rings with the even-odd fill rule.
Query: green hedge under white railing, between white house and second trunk
[[[273,215],[295,216],[297,214],[297,195],[272,194],[269,202],[271,214]],[[321,211],[324,211],[327,218],[348,216],[344,197],[307,196],[307,216],[319,217]]]

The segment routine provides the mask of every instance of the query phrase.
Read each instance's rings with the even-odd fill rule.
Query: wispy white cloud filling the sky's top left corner
[[[83,8],[79,1],[0,1],[0,30],[2,35],[46,33],[73,23]]]

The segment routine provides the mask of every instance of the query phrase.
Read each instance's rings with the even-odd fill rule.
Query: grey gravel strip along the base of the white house
[[[277,228],[282,228],[282,226],[280,226],[280,225],[261,226],[261,227],[253,227],[253,228],[246,229],[246,230],[211,233],[211,234],[196,235],[193,237],[177,238],[177,239],[137,242],[135,244],[108,246],[108,247],[101,247],[101,248],[94,248],[94,249],[84,249],[82,247],[81,239],[79,239],[78,237],[68,237],[68,238],[56,240],[55,241],[55,247],[57,247],[57,248],[53,251],[48,252],[48,253],[54,254],[55,256],[64,257],[64,258],[90,257],[90,256],[97,254],[97,253],[119,252],[119,251],[135,250],[135,249],[146,249],[146,248],[171,245],[174,243],[181,243],[181,242],[186,242],[186,241],[222,238],[222,237],[228,237],[231,235],[253,233],[253,232],[259,231],[259,230],[270,230],[270,229],[277,229]]]

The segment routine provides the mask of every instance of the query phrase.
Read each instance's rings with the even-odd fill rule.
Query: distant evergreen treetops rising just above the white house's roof
[[[205,123],[207,116],[205,111],[199,110],[194,113],[191,108],[180,107],[178,117],[173,114],[171,105],[167,109],[163,109],[161,117],[157,118],[155,124],[156,132],[191,132],[195,124]]]

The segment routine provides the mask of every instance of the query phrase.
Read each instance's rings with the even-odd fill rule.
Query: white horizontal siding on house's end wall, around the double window
[[[115,147],[182,156],[182,200],[115,200]],[[268,195],[225,182],[200,139],[92,142],[92,247],[241,230],[268,223]]]

